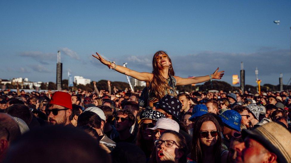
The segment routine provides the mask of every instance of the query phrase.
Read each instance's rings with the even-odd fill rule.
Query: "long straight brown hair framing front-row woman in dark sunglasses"
[[[221,162],[220,158],[220,150],[221,150],[221,144],[222,144],[222,137],[221,137],[221,128],[219,126],[219,122],[216,120],[216,118],[211,115],[211,114],[205,114],[199,117],[194,124],[194,129],[193,129],[193,138],[192,138],[192,145],[191,145],[191,157],[194,159],[196,162],[202,162],[202,157],[203,157],[203,151],[200,145],[200,129],[201,126],[204,122],[206,121],[212,121],[214,125],[216,126],[217,129],[217,141],[213,146],[213,152],[210,153],[212,154],[212,157],[215,158],[217,162]]]

